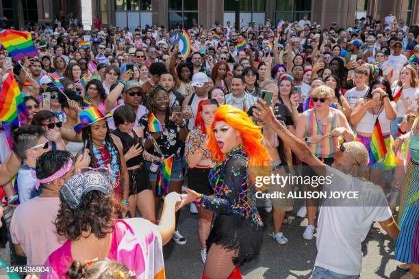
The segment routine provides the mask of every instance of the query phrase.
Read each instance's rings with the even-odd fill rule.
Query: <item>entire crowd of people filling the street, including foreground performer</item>
[[[170,43],[179,27],[25,31],[38,57],[0,53],[0,83],[12,72],[27,109],[0,131],[0,241],[12,265],[43,265],[40,278],[165,278],[163,245],[188,245],[177,226],[190,204],[202,278],[242,278],[263,243],[261,210],[278,245],[290,214],[307,217],[307,241],[317,228],[311,278],[359,278],[374,222],[396,239],[402,278],[419,278],[417,25],[392,12],[347,28],[307,15],[196,25],[187,57]],[[256,188],[255,168],[332,176],[321,191],[363,198],[306,198],[293,213],[292,199],[257,191],[307,189]]]

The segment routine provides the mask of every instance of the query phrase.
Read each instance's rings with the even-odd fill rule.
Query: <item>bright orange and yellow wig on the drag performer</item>
[[[247,116],[246,112],[237,107],[233,107],[232,105],[221,105],[218,107],[214,116],[214,121],[211,124],[208,150],[210,150],[212,157],[214,157],[216,161],[220,162],[225,159],[225,154],[221,152],[214,134],[214,127],[217,121],[227,122],[229,126],[240,131],[244,151],[249,156],[249,167],[264,166],[270,163],[268,150],[262,145],[262,128],[255,125],[251,118]]]

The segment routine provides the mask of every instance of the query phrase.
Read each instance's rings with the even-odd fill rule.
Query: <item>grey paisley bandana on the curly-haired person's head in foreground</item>
[[[81,172],[71,177],[60,189],[62,198],[71,209],[77,209],[81,200],[90,191],[101,191],[103,194],[109,195],[111,191],[109,179],[92,170]]]

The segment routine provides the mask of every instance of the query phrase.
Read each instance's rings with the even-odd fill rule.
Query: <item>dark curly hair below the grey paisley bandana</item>
[[[75,241],[80,239],[83,232],[89,232],[101,239],[114,230],[115,206],[118,202],[115,202],[113,195],[97,190],[90,191],[77,209],[71,209],[61,194],[60,200],[61,205],[55,220],[58,235]]]

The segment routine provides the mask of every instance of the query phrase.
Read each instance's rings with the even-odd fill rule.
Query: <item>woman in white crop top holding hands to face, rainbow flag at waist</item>
[[[394,166],[394,156],[390,152],[392,137],[390,135],[390,123],[396,117],[396,103],[394,103],[390,83],[385,77],[374,79],[370,89],[364,98],[359,98],[351,114],[351,124],[356,127],[359,142],[362,142],[370,153],[371,165],[374,169],[370,173],[370,181],[381,184],[383,173],[377,168],[383,169]],[[375,148],[371,141],[372,133],[379,135],[379,127],[374,131],[375,123],[379,122],[385,147]],[[378,136],[380,137],[380,136]],[[382,151],[380,151],[382,150]]]

